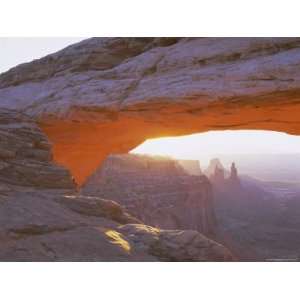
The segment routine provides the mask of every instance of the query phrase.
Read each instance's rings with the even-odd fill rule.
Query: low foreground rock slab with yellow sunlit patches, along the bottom
[[[90,213],[95,204],[83,200],[76,195],[64,199],[61,191],[53,190],[25,190],[2,197],[0,261],[234,259],[229,250],[197,231],[122,225],[137,220],[116,203],[100,198],[93,199],[97,210]]]

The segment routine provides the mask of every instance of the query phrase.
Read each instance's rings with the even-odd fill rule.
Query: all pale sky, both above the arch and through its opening
[[[56,52],[84,38],[0,38],[0,73]],[[199,154],[300,153],[300,137],[272,131],[211,131],[185,137],[148,140],[135,153],[197,159]]]

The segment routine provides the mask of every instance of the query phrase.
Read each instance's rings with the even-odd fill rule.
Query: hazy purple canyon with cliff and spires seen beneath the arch
[[[268,161],[272,155],[260,163]],[[273,176],[284,166],[286,161],[277,162]],[[115,199],[151,226],[202,232],[226,245],[235,260],[298,261],[300,183],[259,180],[234,170],[218,158],[202,171],[196,160],[114,155],[80,192]]]

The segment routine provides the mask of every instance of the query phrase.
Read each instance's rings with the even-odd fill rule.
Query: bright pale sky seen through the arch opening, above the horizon
[[[263,130],[209,131],[147,140],[132,152],[181,159],[199,159],[217,154],[300,153],[300,136]]]

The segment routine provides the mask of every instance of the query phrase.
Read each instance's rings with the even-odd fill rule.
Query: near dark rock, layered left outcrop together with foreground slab
[[[232,259],[196,232],[197,242],[173,238],[189,235],[185,231],[156,234],[151,245],[149,238],[133,239],[122,227],[132,223],[148,228],[114,201],[79,195],[70,173],[52,161],[39,127],[19,112],[0,109],[0,261]]]

